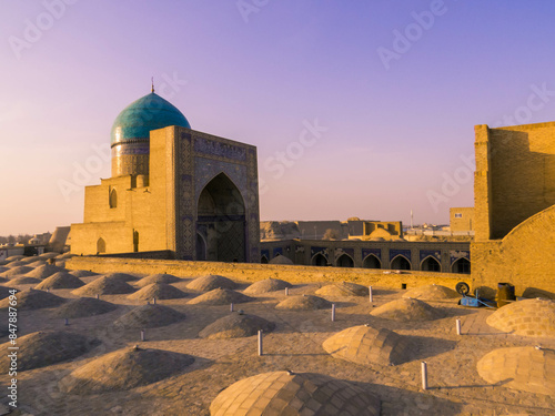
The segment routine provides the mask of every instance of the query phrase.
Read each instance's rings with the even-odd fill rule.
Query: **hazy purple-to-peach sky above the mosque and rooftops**
[[[474,125],[555,120],[555,2],[2,0],[0,235],[83,220],[150,92],[258,148],[261,220],[448,223]]]

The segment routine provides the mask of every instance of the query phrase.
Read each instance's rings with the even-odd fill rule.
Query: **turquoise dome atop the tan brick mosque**
[[[150,139],[150,131],[169,125],[191,129],[191,124],[175,105],[151,92],[129,104],[112,125],[111,145]]]

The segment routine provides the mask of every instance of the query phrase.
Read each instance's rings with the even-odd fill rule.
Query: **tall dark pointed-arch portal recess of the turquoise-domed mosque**
[[[243,196],[235,184],[220,173],[199,196],[196,223],[196,256],[215,262],[245,261],[245,209]],[[199,258],[201,256],[201,258]]]

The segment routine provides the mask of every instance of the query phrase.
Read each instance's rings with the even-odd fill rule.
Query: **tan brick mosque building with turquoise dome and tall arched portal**
[[[255,146],[192,130],[152,88],[118,115],[111,149],[112,177],[85,187],[72,253],[260,261]]]

